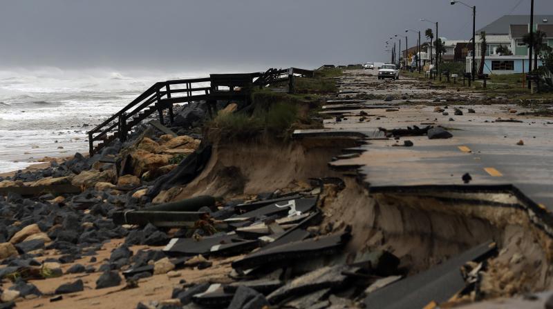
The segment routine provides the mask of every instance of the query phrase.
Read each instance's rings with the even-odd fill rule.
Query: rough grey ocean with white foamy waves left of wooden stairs
[[[203,72],[0,70],[0,173],[88,152],[86,132],[156,81]]]

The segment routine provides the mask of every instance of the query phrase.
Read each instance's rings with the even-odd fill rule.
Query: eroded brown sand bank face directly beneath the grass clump
[[[337,177],[326,166],[355,139],[216,143],[205,170],[174,200],[196,195],[225,198],[308,186],[312,177]]]

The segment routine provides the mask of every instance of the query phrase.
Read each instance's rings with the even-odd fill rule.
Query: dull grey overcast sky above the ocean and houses
[[[476,4],[480,28],[529,14],[530,0],[465,3]],[[553,1],[536,0],[535,12],[553,14]],[[0,0],[0,67],[261,70],[385,61],[384,41],[429,28],[421,18],[438,21],[440,37],[471,36],[471,11],[449,0]],[[414,45],[415,34],[409,38]]]

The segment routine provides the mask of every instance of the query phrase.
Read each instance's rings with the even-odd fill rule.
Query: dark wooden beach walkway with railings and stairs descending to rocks
[[[131,129],[154,112],[158,112],[159,120],[163,124],[163,111],[167,109],[169,121],[172,123],[174,121],[173,104],[244,98],[247,94],[235,92],[234,87],[245,86],[245,83],[265,87],[277,81],[290,80],[290,90],[293,90],[294,74],[312,77],[313,71],[298,68],[280,70],[270,68],[266,72],[251,74],[212,74],[210,77],[200,79],[178,79],[154,83],[122,110],[88,131],[90,155],[93,156],[115,139],[125,141]],[[219,89],[221,86],[227,87],[226,95],[223,95],[224,91]],[[95,144],[96,142],[100,143]]]

